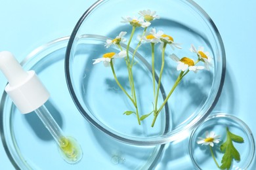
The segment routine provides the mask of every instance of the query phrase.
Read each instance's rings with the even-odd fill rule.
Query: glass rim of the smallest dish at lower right
[[[245,166],[245,168],[243,167],[243,169],[247,169],[251,163],[253,162],[253,159],[255,157],[255,140],[253,138],[253,133],[251,131],[251,129],[249,128],[249,126],[247,126],[247,124],[245,124],[244,121],[242,121],[240,118],[233,116],[231,114],[226,114],[223,112],[214,112],[213,115],[209,116],[200,126],[196,127],[196,129],[194,129],[190,135],[190,139],[189,139],[189,144],[188,144],[188,152],[190,155],[190,158],[193,162],[193,164],[196,166],[197,169],[201,169],[200,165],[198,165],[198,163],[196,162],[196,160],[194,159],[194,154],[192,152],[193,148],[192,148],[192,141],[194,141],[195,137],[195,133],[198,130],[198,128],[200,128],[201,126],[203,126],[203,124],[209,120],[213,120],[213,119],[221,119],[221,118],[226,118],[229,120],[232,120],[234,122],[236,122],[236,124],[240,125],[240,127],[247,133],[247,137],[248,139],[250,139],[251,144],[252,144],[252,152],[251,152],[251,159],[247,162],[247,165]]]

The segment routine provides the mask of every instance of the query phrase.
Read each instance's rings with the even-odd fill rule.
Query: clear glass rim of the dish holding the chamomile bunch
[[[191,0],[182,0],[182,3],[186,3],[186,5],[191,5],[194,9],[197,10],[197,12],[200,12],[200,14],[202,15],[203,20],[205,20],[205,23],[211,27],[211,29],[213,29],[213,32],[215,33],[215,37],[216,37],[216,41],[219,45],[220,48],[220,52],[221,52],[221,66],[218,65],[219,69],[218,71],[220,73],[218,76],[220,77],[219,80],[217,80],[218,82],[215,81],[215,79],[213,80],[213,84],[217,84],[217,90],[215,90],[215,97],[211,103],[211,105],[209,105],[209,107],[207,107],[207,109],[205,110],[205,112],[203,114],[201,114],[200,116],[196,116],[196,118],[192,121],[189,122],[189,124],[186,124],[186,126],[184,126],[181,129],[177,128],[171,131],[171,135],[170,134],[163,134],[159,137],[148,137],[148,138],[141,138],[141,137],[129,137],[129,136],[125,136],[123,134],[120,135],[120,133],[118,133],[117,131],[113,131],[112,129],[108,129],[105,128],[103,125],[99,124],[96,120],[94,120],[91,116],[89,116],[89,114],[87,114],[87,112],[83,109],[81,103],[79,102],[79,99],[77,98],[76,94],[75,94],[75,90],[74,90],[74,86],[72,85],[72,71],[70,70],[70,59],[72,58],[72,47],[74,45],[74,42],[77,39],[77,33],[79,32],[79,28],[81,27],[81,25],[83,24],[83,21],[93,12],[93,10],[95,10],[98,6],[102,5],[102,3],[104,3],[105,1],[109,1],[109,0],[98,0],[96,1],[96,3],[94,3],[89,9],[85,10],[85,12],[83,13],[83,15],[81,16],[81,18],[79,18],[77,24],[75,25],[72,34],[70,36],[70,40],[68,42],[68,46],[66,49],[66,56],[65,56],[65,74],[66,74],[66,82],[68,84],[68,89],[70,91],[70,95],[72,96],[72,99],[77,107],[77,109],[79,110],[79,112],[83,115],[83,117],[89,121],[91,124],[93,124],[93,126],[95,126],[97,129],[100,129],[100,131],[104,131],[104,133],[106,133],[107,135],[110,135],[111,137],[114,137],[115,139],[117,139],[118,141],[122,141],[123,143],[128,143],[128,144],[135,144],[135,145],[154,145],[154,144],[164,144],[164,143],[169,143],[171,141],[177,141],[181,138],[184,138],[183,136],[186,135],[186,137],[188,137],[190,134],[190,132],[196,128],[198,125],[200,125],[203,120],[205,120],[207,118],[207,116],[209,116],[209,114],[211,113],[211,111],[213,110],[213,108],[215,107],[215,105],[217,104],[217,101],[219,99],[219,96],[221,95],[221,91],[223,89],[223,84],[224,84],[224,77],[225,77],[225,73],[226,73],[226,55],[224,52],[224,44],[223,41],[221,39],[221,35],[216,27],[216,25],[214,24],[213,20],[211,20],[211,18],[209,17],[209,15],[196,3],[194,3],[194,1]],[[89,34],[84,34],[85,37],[86,36],[92,36]],[[97,36],[97,35],[96,35]]]

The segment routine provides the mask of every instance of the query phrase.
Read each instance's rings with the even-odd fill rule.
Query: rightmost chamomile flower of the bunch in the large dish
[[[191,44],[190,51],[194,52],[198,55],[198,58],[201,61],[203,61],[204,66],[207,70],[209,70],[210,67],[213,66],[213,64],[212,64],[213,59],[211,58],[209,52],[204,52],[203,46],[199,46],[198,49],[196,49],[196,47],[193,44]]]

